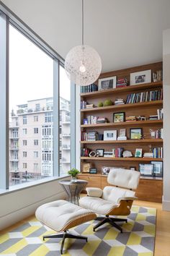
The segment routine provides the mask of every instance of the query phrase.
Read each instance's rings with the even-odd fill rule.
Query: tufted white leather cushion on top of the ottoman
[[[89,213],[92,213],[91,210],[86,210],[65,200],[57,200],[41,205],[37,208],[35,216],[51,229],[61,231],[69,222],[89,215]]]

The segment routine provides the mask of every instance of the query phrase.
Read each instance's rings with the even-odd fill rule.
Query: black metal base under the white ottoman
[[[68,230],[63,231],[61,233],[58,234],[51,234],[48,236],[43,236],[43,241],[45,238],[63,238],[62,243],[61,243],[61,255],[63,255],[63,245],[64,245],[64,241],[66,238],[73,238],[73,239],[85,239],[87,242],[87,237],[86,236],[76,236],[74,234],[68,233]]]

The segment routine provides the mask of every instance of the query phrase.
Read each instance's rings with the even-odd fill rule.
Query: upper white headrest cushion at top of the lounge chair
[[[139,171],[111,168],[107,177],[107,182],[117,187],[136,189],[138,187],[139,179]]]

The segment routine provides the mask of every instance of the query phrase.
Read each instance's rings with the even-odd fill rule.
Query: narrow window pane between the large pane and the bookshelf
[[[60,174],[71,168],[71,82],[60,66]]]

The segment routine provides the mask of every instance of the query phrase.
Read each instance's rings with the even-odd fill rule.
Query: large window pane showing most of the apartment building
[[[53,59],[9,26],[9,184],[53,176]]]

